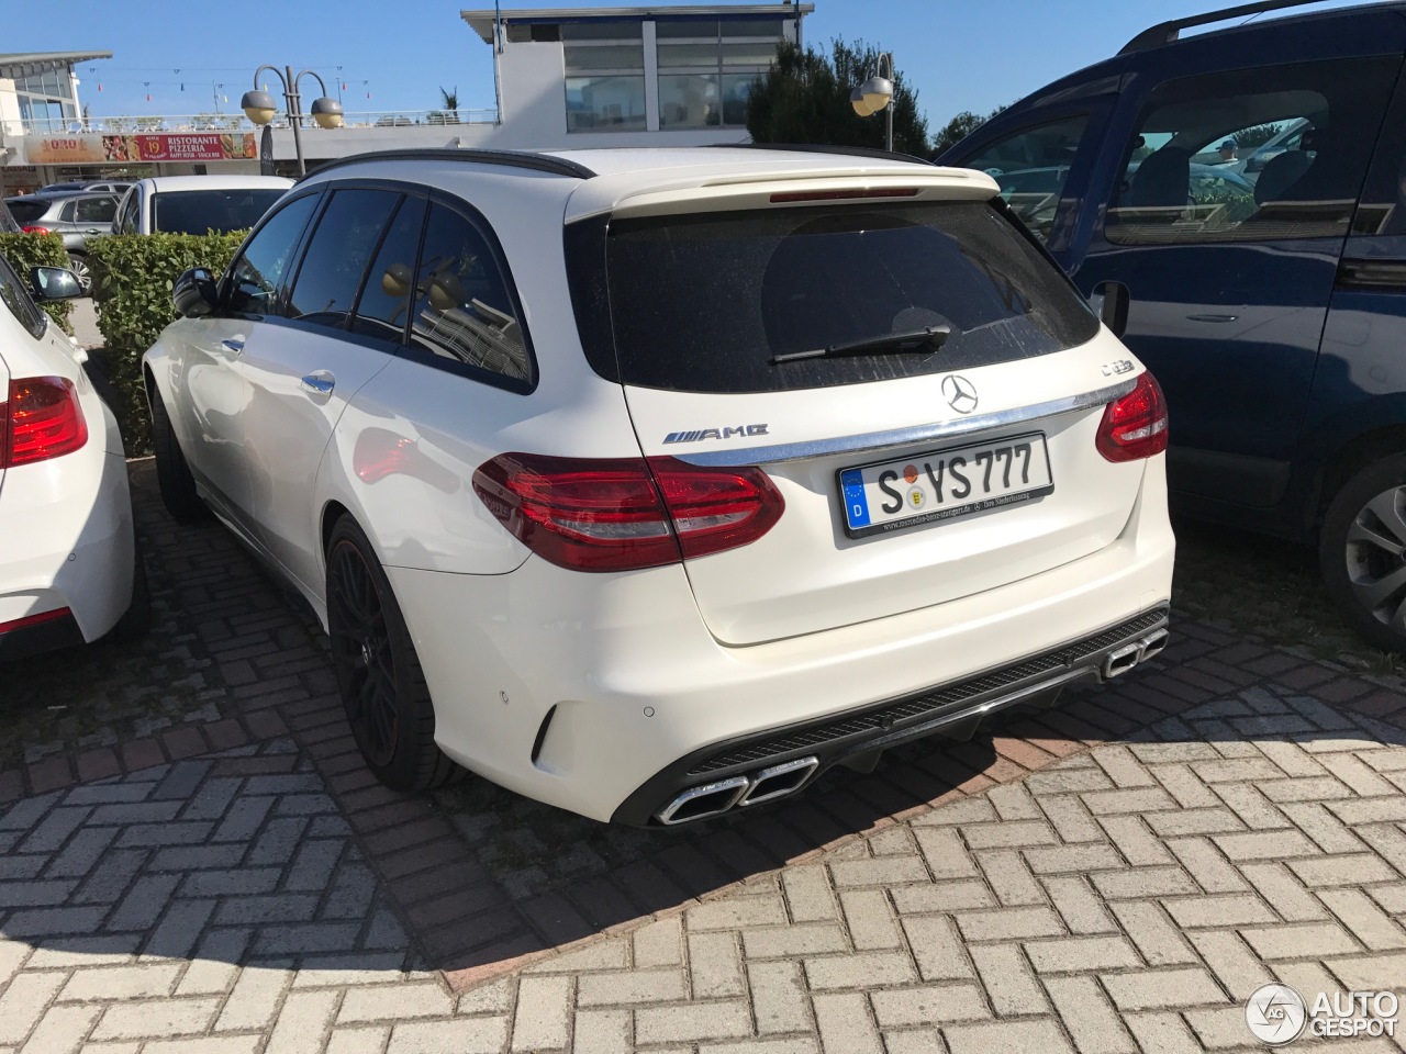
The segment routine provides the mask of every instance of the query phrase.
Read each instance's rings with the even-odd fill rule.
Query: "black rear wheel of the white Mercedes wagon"
[[[352,735],[375,777],[426,791],[461,769],[434,743],[425,670],[375,551],[350,516],[328,540],[328,632]]]

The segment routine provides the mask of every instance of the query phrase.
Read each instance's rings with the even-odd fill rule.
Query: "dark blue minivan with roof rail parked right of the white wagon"
[[[981,169],[1171,412],[1191,514],[1317,544],[1406,649],[1406,3],[1265,0],[1164,22],[1021,100],[938,163]],[[1116,289],[1122,294],[1122,289]]]

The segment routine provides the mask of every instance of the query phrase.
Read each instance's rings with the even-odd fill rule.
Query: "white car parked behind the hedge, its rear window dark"
[[[157,176],[122,195],[118,235],[204,235],[247,230],[292,180],[281,176]]]

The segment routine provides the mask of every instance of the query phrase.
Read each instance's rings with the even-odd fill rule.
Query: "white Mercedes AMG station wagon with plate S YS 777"
[[[166,503],[308,600],[392,787],[673,825],[1166,641],[1160,391],[981,173],[364,155],[174,299]]]

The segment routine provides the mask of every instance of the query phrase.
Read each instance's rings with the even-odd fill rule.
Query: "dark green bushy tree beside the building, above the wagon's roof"
[[[747,131],[758,143],[815,143],[883,149],[883,111],[859,117],[849,93],[879,66],[879,49],[863,42],[831,42],[825,56],[785,42],[772,67],[752,82]],[[918,112],[918,93],[894,70],[893,148],[928,156],[928,122]]]

